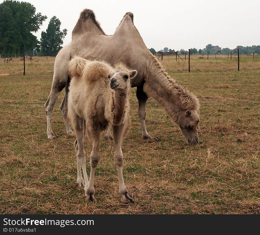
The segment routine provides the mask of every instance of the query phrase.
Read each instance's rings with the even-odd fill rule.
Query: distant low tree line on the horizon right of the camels
[[[239,53],[241,54],[252,54],[252,53],[256,53],[256,54],[260,54],[260,46],[237,46],[234,49],[230,49],[230,48],[221,48],[219,46],[213,46],[212,44],[208,44],[205,48],[203,49],[196,49],[196,48],[190,48],[190,53],[192,55],[206,55],[209,53],[209,55],[215,55],[215,54],[230,54],[230,51],[232,53],[237,53],[238,52],[238,48],[239,48]],[[150,48],[149,49],[151,51],[151,53],[155,53],[155,49],[154,48]],[[163,52],[175,52],[175,50],[172,49],[168,49],[168,47],[163,48],[162,50]],[[181,52],[185,52],[184,49],[180,50]],[[186,51],[186,54],[188,54],[188,51]]]

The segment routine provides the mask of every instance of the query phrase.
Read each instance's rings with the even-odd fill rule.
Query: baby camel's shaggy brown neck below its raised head
[[[124,120],[124,114],[125,114],[126,103],[127,103],[127,92],[125,93],[114,92],[113,99],[114,99],[113,125],[120,125]]]

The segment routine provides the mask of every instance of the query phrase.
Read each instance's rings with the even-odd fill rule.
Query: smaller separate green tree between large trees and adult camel
[[[46,32],[41,33],[41,51],[44,55],[57,54],[61,49],[64,37],[67,35],[67,30],[60,30],[61,22],[56,16],[53,16],[49,22]]]

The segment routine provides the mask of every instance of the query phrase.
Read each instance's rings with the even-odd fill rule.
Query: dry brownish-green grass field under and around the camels
[[[205,56],[204,56],[205,57]],[[210,56],[162,64],[178,84],[199,98],[200,143],[186,144],[180,128],[151,99],[147,130],[160,142],[142,140],[135,89],[132,127],[122,145],[124,179],[134,204],[120,202],[113,142],[100,142],[95,173],[97,202],[85,202],[76,187],[75,137],[67,136],[58,97],[46,137],[44,103],[54,58],[0,61],[0,213],[5,214],[260,214],[260,57]],[[134,68],[133,68],[134,69]],[[91,144],[85,140],[88,157]],[[89,176],[90,166],[87,164]]]

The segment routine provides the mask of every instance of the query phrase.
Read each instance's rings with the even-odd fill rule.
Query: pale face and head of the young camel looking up
[[[130,79],[135,77],[136,74],[136,70],[129,72],[128,69],[123,67],[111,70],[108,74],[108,78],[110,79],[109,86],[113,90],[125,92],[129,88]]]

